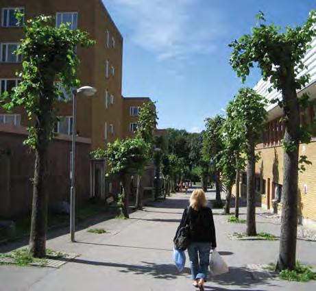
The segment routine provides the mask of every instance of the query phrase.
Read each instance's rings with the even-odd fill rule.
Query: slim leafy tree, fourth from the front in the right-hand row
[[[219,168],[219,159],[217,154],[223,150],[223,140],[221,139],[221,128],[225,118],[221,115],[216,115],[213,118],[206,119],[206,130],[203,137],[202,153],[206,160],[212,163],[215,171],[215,188],[216,188],[216,201],[221,205],[221,181]]]

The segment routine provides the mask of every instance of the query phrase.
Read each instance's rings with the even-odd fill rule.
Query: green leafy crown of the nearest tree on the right
[[[257,18],[265,22],[262,12]],[[257,64],[263,79],[271,82],[272,86],[269,90],[275,88],[284,93],[285,97],[282,100],[275,99],[273,102],[277,102],[284,108],[286,127],[289,123],[289,116],[287,116],[289,97],[285,94],[285,89],[291,88],[295,92],[309,82],[309,75],[300,76],[299,73],[306,68],[303,60],[307,49],[311,47],[311,40],[316,36],[316,30],[313,29],[315,23],[316,12],[312,10],[302,26],[285,27],[281,30],[274,24],[260,23],[252,29],[252,34],[246,34],[230,44],[233,49],[230,64],[243,82],[250,74],[250,68]],[[296,98],[297,96],[294,97]],[[308,96],[302,96],[299,101],[300,107],[304,108],[307,101]],[[293,138],[293,140],[288,138],[287,142],[283,142],[283,147],[285,151],[291,152],[296,150],[298,141],[309,142],[310,140],[308,132],[304,129],[301,130],[298,138]]]

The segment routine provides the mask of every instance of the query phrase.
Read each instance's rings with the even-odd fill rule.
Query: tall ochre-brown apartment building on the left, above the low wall
[[[62,23],[70,23],[72,29],[88,31],[96,45],[90,48],[77,47],[80,58],[78,78],[82,86],[89,85],[97,89],[93,97],[77,97],[77,135],[92,140],[92,149],[105,148],[108,142],[131,137],[130,129],[136,128],[136,109],[148,98],[125,99],[122,97],[122,62],[123,37],[112,21],[101,0],[2,0],[0,3],[0,94],[10,91],[18,84],[16,71],[21,70],[22,58],[12,52],[23,38],[23,28],[16,23],[14,10],[25,14],[25,20],[40,14],[55,17],[54,23],[59,27]],[[58,84],[57,84],[58,85]],[[60,134],[71,134],[72,97],[69,101],[60,101],[58,114],[60,122],[55,131]],[[129,114],[134,110],[132,115]],[[17,108],[14,114],[0,110],[0,123],[27,126],[23,108]],[[132,125],[132,123],[134,123]],[[126,126],[127,125],[127,126]]]

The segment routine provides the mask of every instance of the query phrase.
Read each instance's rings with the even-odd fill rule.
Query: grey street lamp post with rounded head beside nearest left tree
[[[71,242],[75,242],[75,136],[76,136],[76,94],[82,93],[91,97],[97,90],[90,86],[83,86],[73,90],[73,140],[71,145],[71,189],[70,189],[70,236]]]

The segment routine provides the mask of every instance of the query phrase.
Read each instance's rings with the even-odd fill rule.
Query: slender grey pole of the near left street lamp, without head
[[[71,190],[70,190],[70,236],[75,242],[75,122],[76,121],[76,92],[73,91],[73,142],[71,149]]]

